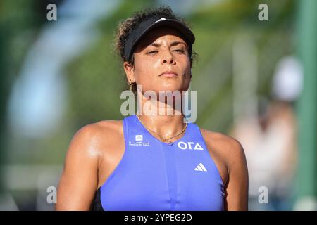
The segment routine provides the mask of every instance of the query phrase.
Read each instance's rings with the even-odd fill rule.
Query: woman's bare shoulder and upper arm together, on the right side
[[[225,185],[225,210],[248,210],[249,176],[241,144],[231,136],[201,129]]]

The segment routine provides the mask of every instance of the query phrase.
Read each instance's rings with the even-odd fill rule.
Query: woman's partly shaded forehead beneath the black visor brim
[[[142,49],[154,41],[160,41],[163,39],[168,41],[180,41],[186,44],[185,38],[182,37],[182,34],[172,27],[157,27],[142,37],[135,47],[135,51],[142,51]]]

